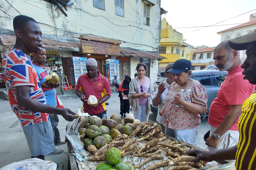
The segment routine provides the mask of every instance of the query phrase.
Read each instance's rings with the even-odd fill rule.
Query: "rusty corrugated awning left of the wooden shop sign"
[[[5,46],[12,47],[16,42],[16,36],[2,36],[1,43]],[[49,38],[42,38],[42,44],[47,48],[54,48],[60,50],[79,51],[80,42],[72,42],[66,40],[53,40]]]

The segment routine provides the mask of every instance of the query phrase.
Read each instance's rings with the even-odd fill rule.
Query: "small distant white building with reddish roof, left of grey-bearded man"
[[[209,64],[214,64],[213,60],[214,47],[205,47],[193,51],[192,56],[192,69],[202,70]]]

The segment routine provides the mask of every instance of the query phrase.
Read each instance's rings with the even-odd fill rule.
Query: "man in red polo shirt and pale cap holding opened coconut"
[[[83,102],[83,111],[102,119],[102,115],[107,114],[105,102],[111,95],[110,84],[108,79],[98,71],[98,64],[94,58],[87,59],[86,69],[87,73],[81,75],[77,80],[75,92]],[[94,95],[98,99],[98,103],[95,106],[87,104],[87,99],[90,95]]]

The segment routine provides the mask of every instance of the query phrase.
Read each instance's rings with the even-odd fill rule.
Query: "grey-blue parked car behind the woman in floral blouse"
[[[219,70],[193,70],[192,75],[189,77],[199,81],[206,89],[206,93],[208,96],[208,102],[207,102],[207,113],[206,116],[208,116],[210,106],[212,104],[213,99],[216,98],[218,90],[222,82],[225,80],[227,71],[219,71]],[[154,90],[156,91],[156,88],[158,87],[158,84],[163,82],[166,79],[165,76],[157,79],[154,83]],[[157,114],[158,107],[154,107],[151,105],[151,112]],[[201,115],[202,117],[203,115]]]

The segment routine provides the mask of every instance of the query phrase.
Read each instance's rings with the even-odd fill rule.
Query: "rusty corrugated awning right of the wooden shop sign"
[[[120,48],[120,53],[122,56],[129,56],[129,57],[139,57],[139,58],[150,58],[150,59],[167,59],[161,55],[158,55],[156,53],[152,52],[146,52],[146,51],[136,51],[132,49],[124,49]]]

